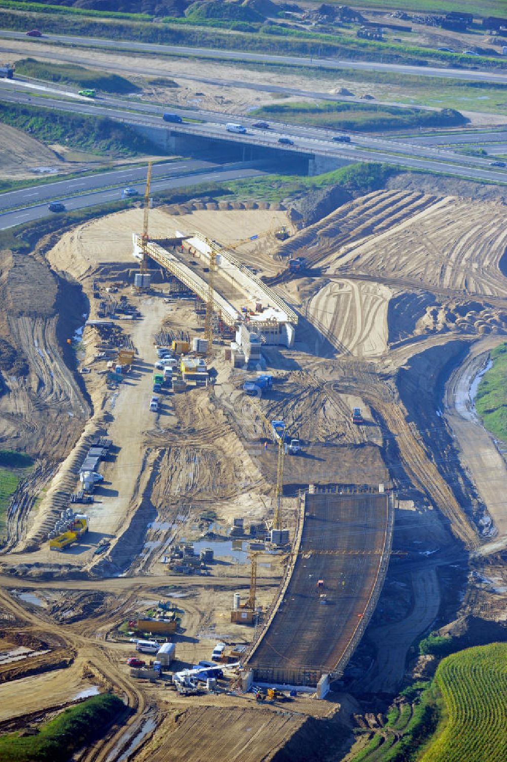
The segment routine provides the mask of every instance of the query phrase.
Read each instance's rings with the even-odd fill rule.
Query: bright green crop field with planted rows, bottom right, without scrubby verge
[[[441,661],[443,716],[421,762],[505,762],[507,643],[467,648]]]

